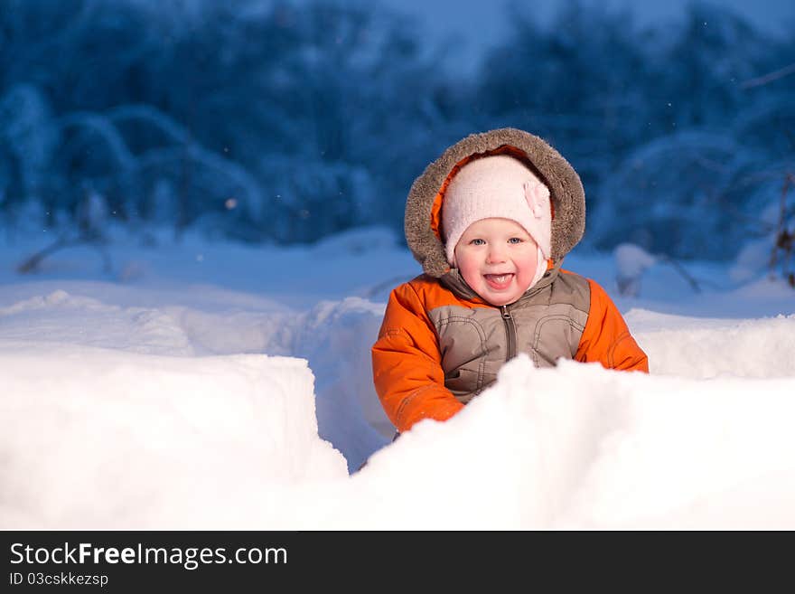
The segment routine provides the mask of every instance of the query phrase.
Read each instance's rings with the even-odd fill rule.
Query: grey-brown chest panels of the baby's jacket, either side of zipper
[[[570,273],[549,276],[553,281],[543,286],[539,282],[508,306],[517,352],[528,354],[537,367],[574,358],[591,302],[586,278]],[[444,385],[465,404],[497,379],[508,360],[510,325],[495,306],[439,306],[428,316],[439,340]]]

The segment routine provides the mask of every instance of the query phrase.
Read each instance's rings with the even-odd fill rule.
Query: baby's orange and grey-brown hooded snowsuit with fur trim
[[[444,256],[439,229],[444,190],[472,158],[510,154],[550,191],[552,254],[547,273],[507,306],[479,297]],[[585,193],[574,168],[546,142],[502,128],[466,137],[428,165],[406,205],[408,247],[425,274],[389,296],[372,349],[373,378],[400,432],[418,420],[447,420],[497,378],[506,361],[528,354],[538,367],[557,359],[648,372],[648,360],[616,306],[593,280],[562,270],[585,231]]]

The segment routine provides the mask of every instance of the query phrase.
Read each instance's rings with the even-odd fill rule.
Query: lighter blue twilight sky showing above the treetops
[[[382,5],[413,14],[426,34],[435,38],[454,36],[456,54],[464,60],[463,71],[472,71],[482,50],[495,44],[508,30],[508,0],[376,0]],[[565,0],[518,0],[519,5],[538,12],[548,23]],[[674,21],[683,14],[689,0],[582,0],[586,5],[603,5],[606,10],[631,8],[639,24]],[[795,0],[714,0],[734,9],[762,31],[776,35],[795,34]],[[469,65],[469,67],[467,66]]]

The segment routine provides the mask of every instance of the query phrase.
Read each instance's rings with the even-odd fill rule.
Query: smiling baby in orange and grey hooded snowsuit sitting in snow
[[[398,432],[449,419],[519,353],[649,371],[604,289],[560,268],[585,231],[585,192],[541,138],[501,128],[449,147],[412,185],[405,226],[425,274],[392,291],[372,349]]]

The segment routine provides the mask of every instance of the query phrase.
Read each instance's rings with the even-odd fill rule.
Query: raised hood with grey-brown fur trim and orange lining
[[[473,157],[508,154],[525,162],[547,184],[552,203],[552,259],[559,267],[585,231],[585,191],[574,167],[544,140],[517,128],[472,134],[447,148],[416,178],[409,190],[404,221],[408,247],[427,275],[450,269],[440,230],[444,190]]]

